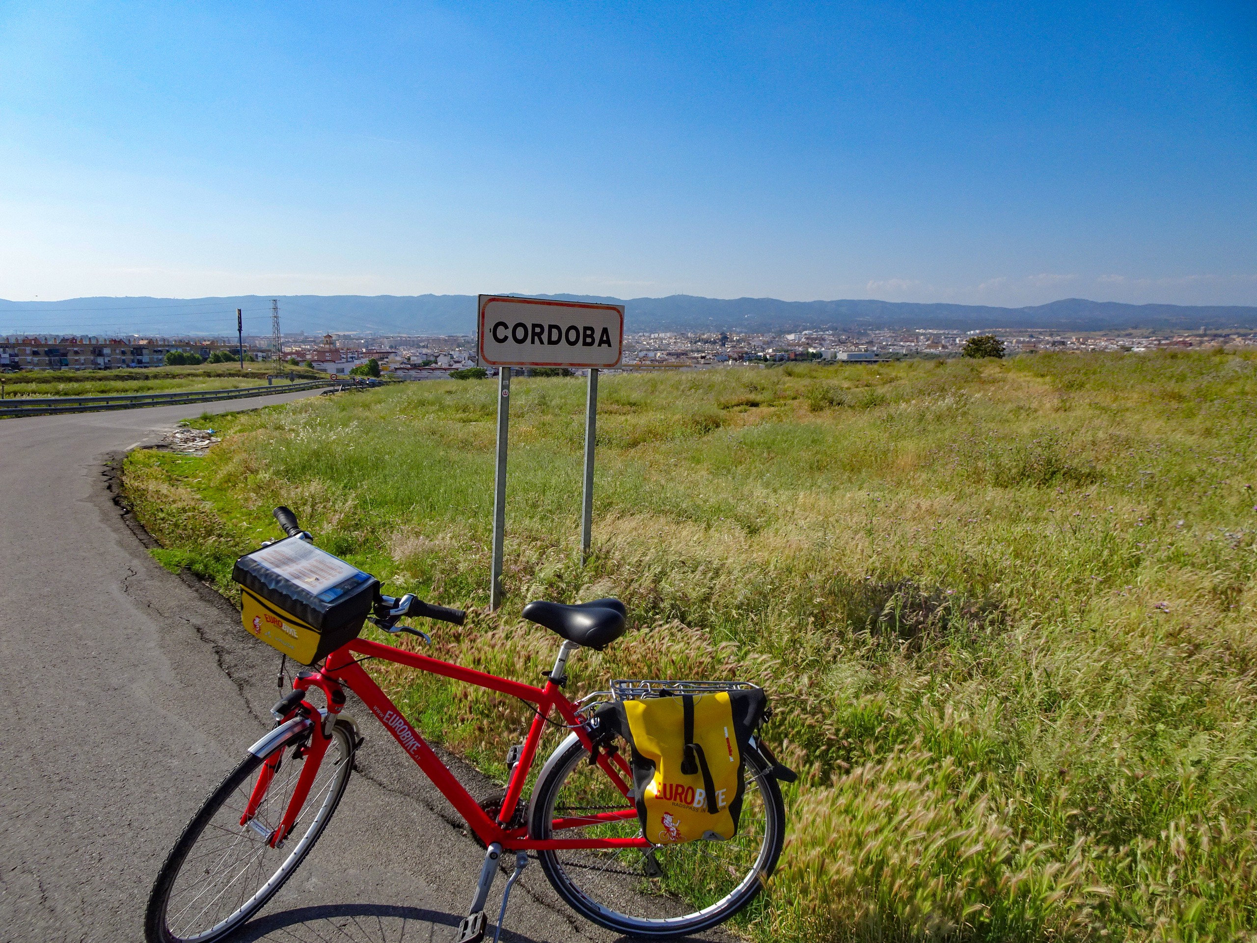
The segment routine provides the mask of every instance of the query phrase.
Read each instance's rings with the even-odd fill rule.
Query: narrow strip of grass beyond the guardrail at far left
[[[23,370],[0,373],[5,396],[102,396],[128,392],[176,392],[180,390],[230,390],[261,386],[266,373],[293,372],[299,380],[327,376],[305,367],[277,370],[272,363],[204,363],[197,367],[150,367],[145,370]]]

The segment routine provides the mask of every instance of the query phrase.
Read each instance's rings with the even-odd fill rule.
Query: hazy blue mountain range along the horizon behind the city
[[[666,298],[622,301],[601,295],[551,294],[543,298],[623,304],[626,329],[749,331],[768,333],[807,328],[1038,328],[1125,331],[1138,328],[1198,331],[1257,328],[1257,307],[1123,304],[1066,298],[1028,308],[980,304],[921,304],[852,299],[782,302],[776,298]],[[475,295],[282,295],[285,334],[354,332],[375,334],[470,334],[475,332]],[[235,333],[236,308],[246,334],[270,333],[270,298],[70,298],[59,302],[0,301],[0,334],[201,334]]]

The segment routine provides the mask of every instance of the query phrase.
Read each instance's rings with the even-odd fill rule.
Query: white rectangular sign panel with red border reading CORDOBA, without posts
[[[481,294],[478,324],[480,366],[615,367],[625,308]]]

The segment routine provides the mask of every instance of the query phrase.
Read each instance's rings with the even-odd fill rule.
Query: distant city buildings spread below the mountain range
[[[625,336],[622,370],[715,367],[730,363],[787,361],[881,362],[910,357],[960,356],[965,341],[996,334],[1009,355],[1038,351],[1131,351],[1156,348],[1257,347],[1254,331],[1110,332],[1043,329],[936,328],[874,329],[866,332],[799,331],[739,333],[650,331]],[[0,337],[0,371],[18,370],[136,370],[161,366],[231,362],[240,357],[236,339],[204,337],[60,336]],[[332,376],[346,375],[375,360],[383,375],[398,380],[444,377],[476,366],[475,337],[381,337],[332,332],[323,336],[245,336],[244,357],[272,362],[277,372],[293,366],[313,367]],[[489,371],[493,373],[494,371]]]

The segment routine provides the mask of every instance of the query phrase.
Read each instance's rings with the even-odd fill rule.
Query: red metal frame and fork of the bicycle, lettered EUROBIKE
[[[463,783],[458,781],[454,773],[450,772],[449,767],[441,762],[440,757],[436,756],[419,732],[411,727],[406,717],[397,709],[397,705],[388,699],[388,695],[380,689],[380,685],[371,680],[371,676],[362,669],[354,655],[363,660],[365,658],[377,658],[385,661],[407,665],[421,671],[429,671],[431,674],[453,678],[454,680],[464,681],[466,684],[488,688],[489,690],[495,690],[502,694],[509,694],[510,697],[515,697],[520,700],[537,705],[537,714],[533,717],[533,722],[528,728],[528,737],[524,741],[523,753],[519,757],[519,762],[515,763],[510,775],[510,781],[507,785],[507,795],[503,800],[498,821],[490,819],[489,815],[480,808],[475,798],[471,797],[471,793],[468,792]],[[549,849],[646,849],[651,846],[645,837],[532,839],[528,836],[527,827],[504,827],[503,824],[509,822],[514,817],[515,807],[519,805],[524,783],[528,780],[528,773],[537,758],[537,748],[541,743],[542,733],[546,727],[546,718],[549,717],[552,712],[558,712],[559,717],[563,718],[564,723],[572,729],[573,733],[576,733],[576,736],[581,739],[581,743],[583,743],[587,749],[593,748],[593,741],[590,738],[588,731],[586,731],[585,724],[578,715],[577,707],[567,699],[562,689],[554,684],[552,678],[547,676],[544,688],[535,688],[530,684],[513,681],[507,678],[498,678],[497,675],[476,671],[475,669],[464,668],[463,665],[455,665],[449,661],[441,661],[419,653],[405,651],[403,649],[392,648],[391,645],[382,645],[366,639],[354,639],[328,655],[323,663],[322,670],[314,669],[312,671],[303,671],[302,675],[293,681],[294,688],[303,690],[307,694],[310,688],[318,688],[322,690],[327,699],[328,717],[334,717],[344,707],[344,693],[341,690],[342,685],[352,690],[358,695],[358,698],[362,699],[362,702],[371,709],[371,713],[375,714],[380,723],[385,725],[385,729],[393,736],[393,739],[401,744],[402,749],[405,749],[410,758],[415,761],[424,775],[432,781],[436,788],[441,791],[441,795],[449,800],[450,805],[458,810],[459,815],[466,820],[468,826],[470,826],[470,829],[485,845],[498,842],[505,851],[542,851]],[[314,704],[303,699],[302,705],[313,718],[319,717],[321,712]],[[270,844],[275,845],[283,841],[295,825],[297,816],[309,795],[310,786],[314,782],[314,776],[318,773],[319,763],[322,762],[327,744],[331,741],[331,724],[327,724],[326,728],[322,723],[316,723],[313,725],[308,752],[305,753],[305,766],[298,777],[297,787],[293,792],[292,800],[289,801],[284,819],[270,836]],[[278,757],[270,762],[278,764]],[[620,790],[621,795],[631,797],[630,785],[632,782],[632,772],[623,756],[620,753],[612,753],[608,756],[602,751],[597,751],[597,764],[611,778],[612,783],[615,783],[616,788]],[[258,803],[265,795],[273,775],[274,767],[268,763],[258,777],[258,782],[254,786],[254,793],[250,797],[244,816],[241,817],[241,825],[248,824],[256,812]],[[601,812],[596,816],[582,816],[579,819],[556,819],[553,820],[552,827],[558,831],[562,829],[587,826],[595,821],[611,822],[636,817],[636,808],[626,808],[623,811]]]

